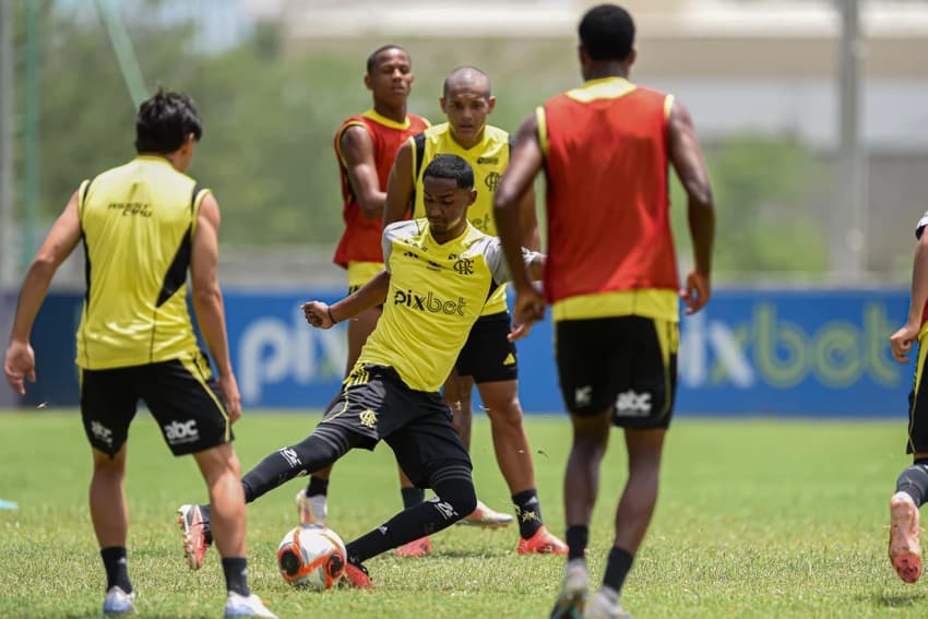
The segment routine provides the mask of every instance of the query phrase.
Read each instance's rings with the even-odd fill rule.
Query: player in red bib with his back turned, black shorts
[[[564,475],[567,543],[551,617],[579,617],[587,590],[584,551],[610,425],[624,429],[629,477],[616,510],[603,586],[583,617],[624,617],[622,584],[657,499],[661,453],[677,383],[678,295],[687,313],[711,294],[715,215],[692,119],[673,96],[628,80],[634,25],[602,4],[580,22],[585,83],[549,99],[519,129],[495,213],[524,325],[552,305],[556,357],[573,445]],[[670,234],[668,162],[688,197],[693,271],[678,291]],[[544,297],[517,263],[520,197],[540,169],[547,181],[549,257]]]

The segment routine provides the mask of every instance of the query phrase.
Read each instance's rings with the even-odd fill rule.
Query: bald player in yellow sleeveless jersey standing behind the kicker
[[[460,67],[444,79],[439,99],[448,122],[427,129],[411,138],[396,154],[386,189],[384,223],[402,219],[413,210],[420,217],[425,207],[423,168],[440,153],[452,153],[466,159],[474,169],[477,199],[467,212],[476,228],[496,235],[492,217],[492,197],[500,176],[509,165],[509,133],[487,124],[487,116],[496,105],[490,92],[490,80],[474,67]],[[535,195],[526,192],[521,201],[521,242],[530,249],[540,245],[538,222],[535,215]],[[516,551],[526,553],[567,553],[567,545],[551,535],[542,520],[542,505],[535,485],[532,448],[522,422],[519,403],[519,381],[515,347],[507,338],[510,329],[505,303],[505,287],[500,286],[489,297],[484,312],[471,331],[471,336],[444,383],[444,402],[454,410],[454,424],[464,441],[471,447],[471,392],[474,383],[490,419],[497,463],[509,485],[520,539]],[[411,504],[421,502],[424,496],[404,489]],[[421,492],[420,490],[418,492]],[[408,504],[407,504],[408,507]],[[499,526],[509,524],[512,516],[497,513],[478,501],[477,510],[462,524]],[[415,540],[397,553],[421,556],[431,550],[428,538]]]

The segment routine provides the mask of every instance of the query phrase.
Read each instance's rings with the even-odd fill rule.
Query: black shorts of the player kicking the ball
[[[393,368],[356,367],[345,379],[341,400],[320,421],[323,425],[359,435],[358,447],[365,449],[385,441],[406,477],[420,488],[429,487],[432,474],[445,465],[472,468],[441,395],[409,389]]]

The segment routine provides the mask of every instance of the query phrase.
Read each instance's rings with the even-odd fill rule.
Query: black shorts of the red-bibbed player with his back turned
[[[666,428],[677,391],[678,325],[639,316],[556,325],[561,395],[572,415],[610,409],[622,428]]]

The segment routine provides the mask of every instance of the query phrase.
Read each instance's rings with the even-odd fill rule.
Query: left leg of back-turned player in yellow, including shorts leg
[[[103,610],[108,615],[135,611],[126,543],[126,440],[138,396],[131,370],[81,370],[81,418],[93,452],[90,487],[91,521],[106,570]]]

